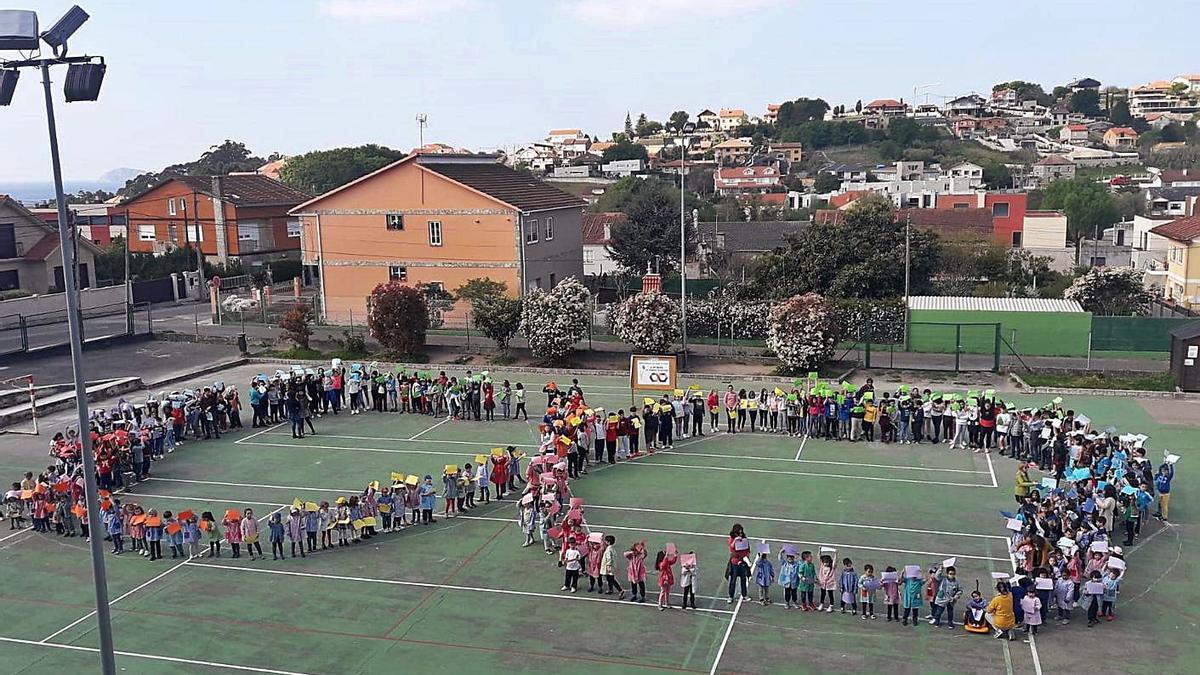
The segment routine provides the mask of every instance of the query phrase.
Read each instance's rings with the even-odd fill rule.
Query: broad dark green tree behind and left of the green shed
[[[905,289],[905,226],[887,197],[857,199],[834,225],[812,225],[785,246],[762,256],[751,287],[767,297],[820,293],[832,298],[894,298]],[[932,289],[940,243],[936,234],[910,232],[913,294]]]

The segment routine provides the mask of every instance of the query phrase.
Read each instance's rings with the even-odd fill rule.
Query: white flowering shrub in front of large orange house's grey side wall
[[[534,288],[526,293],[521,300],[521,333],[535,357],[562,362],[587,336],[590,312],[592,294],[570,276],[548,292]]]

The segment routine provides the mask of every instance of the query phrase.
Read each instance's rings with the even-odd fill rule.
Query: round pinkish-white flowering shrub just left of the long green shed
[[[834,307],[821,295],[793,295],[770,309],[767,347],[792,372],[817,370],[835,345]]]

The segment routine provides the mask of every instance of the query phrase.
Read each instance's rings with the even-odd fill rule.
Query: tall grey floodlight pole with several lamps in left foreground
[[[42,90],[46,96],[46,126],[50,137],[50,166],[54,171],[54,198],[59,208],[59,249],[62,252],[62,285],[67,305],[67,329],[71,336],[71,366],[74,370],[76,412],[79,420],[79,438],[83,444],[84,501],[88,506],[88,522],[91,524],[89,550],[91,551],[91,575],[96,590],[96,620],[100,625],[100,661],[104,675],[115,675],[113,658],[113,626],[108,611],[108,583],[104,577],[103,537],[100,532],[100,498],[96,489],[96,458],[92,454],[91,436],[88,434],[88,394],[83,374],[83,340],[79,316],[79,283],[76,280],[74,247],[68,245],[72,237],[67,219],[67,202],[62,191],[62,163],[59,161],[59,136],[54,124],[54,97],[50,95],[50,66],[66,65],[67,77],[64,94],[67,102],[95,101],[104,79],[104,60],[94,56],[67,56],[67,40],[88,20],[88,13],[73,6],[67,10],[49,30],[38,35],[37,14],[28,10],[0,10],[0,53],[14,50],[38,50],[44,42],[53,56],[35,54],[20,60],[0,59],[0,106],[12,101],[20,68],[42,71]]]

